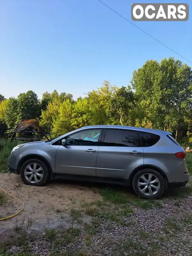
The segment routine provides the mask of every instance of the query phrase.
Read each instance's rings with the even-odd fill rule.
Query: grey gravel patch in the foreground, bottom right
[[[40,237],[25,246],[12,246],[9,251],[31,255],[178,255],[192,253],[192,196],[183,199],[159,200],[163,207],[144,210],[134,207],[134,213],[123,217],[124,225],[105,218],[93,218],[92,224],[78,226],[79,234],[66,241],[64,228],[56,237]],[[166,202],[165,202],[166,201]],[[74,229],[74,228],[73,228]],[[68,234],[73,229],[67,229]],[[75,230],[75,229],[74,229]],[[69,232],[70,231],[70,232]]]

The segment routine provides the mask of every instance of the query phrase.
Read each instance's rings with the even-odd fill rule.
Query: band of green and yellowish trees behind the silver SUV
[[[33,91],[2,99],[3,131],[22,118],[37,118],[47,132],[49,125],[52,138],[83,126],[112,124],[168,130],[177,140],[192,142],[192,70],[172,57],[160,63],[147,60],[133,72],[131,85],[117,87],[104,80],[77,100],[56,90],[44,92],[41,101]]]

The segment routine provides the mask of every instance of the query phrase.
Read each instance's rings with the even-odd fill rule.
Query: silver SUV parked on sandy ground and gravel
[[[55,140],[18,145],[9,170],[27,185],[50,179],[132,185],[141,198],[160,197],[168,186],[185,186],[185,150],[170,132],[116,125],[87,126]]]

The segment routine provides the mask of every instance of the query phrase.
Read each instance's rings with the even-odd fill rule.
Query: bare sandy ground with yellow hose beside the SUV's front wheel
[[[41,231],[44,228],[57,227],[61,222],[68,225],[71,208],[77,209],[83,202],[101,199],[98,188],[56,180],[43,187],[28,186],[19,175],[13,173],[0,173],[0,187],[25,204],[24,210],[17,216],[0,221],[0,235],[14,230],[23,219],[29,222],[30,229]],[[21,208],[22,204],[18,200],[9,197],[8,202],[0,206],[0,218],[10,216]]]

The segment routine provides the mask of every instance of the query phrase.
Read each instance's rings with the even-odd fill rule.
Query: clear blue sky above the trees
[[[131,20],[135,1],[103,2]],[[192,61],[192,2],[184,3],[188,21],[134,23]],[[187,62],[97,0],[0,1],[0,93],[6,98],[28,90],[41,98],[54,89],[77,98],[104,79],[126,86],[146,60],[169,56]]]

